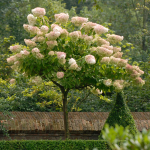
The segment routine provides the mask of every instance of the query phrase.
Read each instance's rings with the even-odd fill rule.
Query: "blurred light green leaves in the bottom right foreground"
[[[134,136],[130,130],[116,125],[109,127],[106,125],[103,131],[103,138],[108,142],[112,150],[149,150],[150,149],[150,130],[143,129]],[[120,142],[121,141],[121,142]]]

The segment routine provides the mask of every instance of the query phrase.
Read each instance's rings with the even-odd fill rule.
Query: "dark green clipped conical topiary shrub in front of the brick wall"
[[[137,133],[133,116],[131,115],[129,108],[123,99],[122,92],[117,93],[115,105],[110,112],[103,129],[105,128],[106,124],[113,127],[115,127],[115,124],[123,126],[124,128],[128,126],[131,134],[135,135]],[[99,139],[102,139],[102,132],[99,136]]]

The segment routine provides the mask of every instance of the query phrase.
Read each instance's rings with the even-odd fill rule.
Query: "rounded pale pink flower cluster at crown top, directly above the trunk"
[[[55,20],[58,23],[67,23],[69,15],[65,13],[55,14]]]

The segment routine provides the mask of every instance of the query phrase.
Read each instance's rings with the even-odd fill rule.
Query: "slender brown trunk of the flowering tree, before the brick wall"
[[[69,139],[69,125],[68,125],[68,110],[67,110],[67,94],[68,90],[62,90],[63,100],[63,113],[64,113],[64,129],[65,129],[65,140]]]

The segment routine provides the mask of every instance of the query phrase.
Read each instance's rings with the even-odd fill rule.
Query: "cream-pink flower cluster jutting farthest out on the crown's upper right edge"
[[[117,43],[123,40],[123,36],[115,35],[115,34],[107,34],[107,41],[110,43]]]

